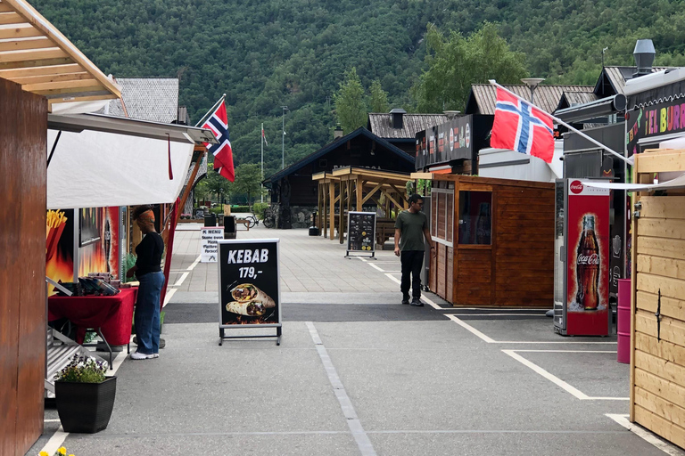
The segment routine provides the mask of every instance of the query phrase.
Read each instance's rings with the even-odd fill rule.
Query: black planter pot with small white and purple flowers
[[[95,433],[107,428],[117,393],[116,376],[104,362],[75,354],[54,379],[54,400],[64,432]]]

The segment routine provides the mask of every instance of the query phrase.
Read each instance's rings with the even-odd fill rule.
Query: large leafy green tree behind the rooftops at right
[[[428,24],[426,42],[428,69],[412,87],[419,112],[463,111],[472,84],[519,84],[528,75],[524,54],[511,51],[490,22],[467,38],[457,32],[445,37]]]

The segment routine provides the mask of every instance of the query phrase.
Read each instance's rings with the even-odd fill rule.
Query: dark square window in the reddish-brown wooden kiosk
[[[492,192],[459,191],[459,244],[490,245]]]

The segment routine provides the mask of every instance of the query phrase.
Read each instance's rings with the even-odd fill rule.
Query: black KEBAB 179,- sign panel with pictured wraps
[[[219,328],[281,325],[278,240],[219,240]]]

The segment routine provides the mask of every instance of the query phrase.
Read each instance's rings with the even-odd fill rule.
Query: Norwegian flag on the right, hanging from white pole
[[[526,153],[551,163],[554,156],[552,118],[497,87],[490,147]]]

